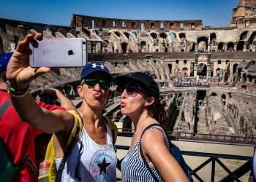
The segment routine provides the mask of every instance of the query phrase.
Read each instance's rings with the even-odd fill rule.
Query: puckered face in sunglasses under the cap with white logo
[[[83,79],[78,87],[80,98],[83,98],[92,108],[102,108],[108,100],[109,85],[106,75],[101,72],[94,72]],[[108,86],[108,87],[107,87]]]

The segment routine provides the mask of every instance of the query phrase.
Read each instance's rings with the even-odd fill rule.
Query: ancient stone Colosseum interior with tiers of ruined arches
[[[202,20],[125,20],[72,15],[70,26],[0,18],[0,54],[15,50],[27,33],[44,38],[87,40],[89,61],[102,61],[113,75],[145,71],[161,87],[165,127],[173,132],[256,135],[256,1],[241,0],[230,27],[204,26]],[[61,87],[76,99],[81,68],[59,68],[33,83]],[[118,94],[105,116],[129,126]],[[128,124],[127,124],[128,123]]]

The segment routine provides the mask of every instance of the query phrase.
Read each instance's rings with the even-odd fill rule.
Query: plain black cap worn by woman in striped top
[[[146,90],[146,93],[153,95],[156,100],[159,100],[160,93],[157,82],[148,74],[144,74],[143,72],[121,74],[114,78],[114,82],[117,86],[124,86],[127,82],[138,82]]]

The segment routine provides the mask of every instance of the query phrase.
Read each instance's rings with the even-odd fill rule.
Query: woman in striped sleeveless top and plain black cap
[[[122,181],[189,181],[170,154],[167,135],[159,125],[159,87],[142,72],[117,76],[121,113],[129,116],[135,133],[121,163]],[[152,125],[153,124],[153,125]]]

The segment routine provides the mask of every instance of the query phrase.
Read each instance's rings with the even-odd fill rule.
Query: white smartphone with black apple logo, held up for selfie
[[[87,62],[86,39],[42,39],[29,44],[32,67],[80,67]]]

